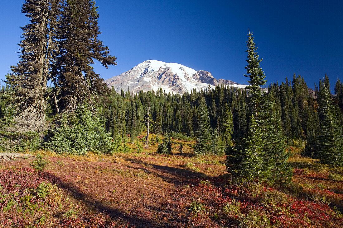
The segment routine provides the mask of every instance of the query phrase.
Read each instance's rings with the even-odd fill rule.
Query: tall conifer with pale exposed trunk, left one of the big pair
[[[20,61],[11,66],[13,73],[6,76],[19,109],[14,121],[22,131],[42,130],[45,124],[47,81],[56,46],[54,30],[59,8],[59,0],[26,0],[22,7],[29,24],[21,27]]]

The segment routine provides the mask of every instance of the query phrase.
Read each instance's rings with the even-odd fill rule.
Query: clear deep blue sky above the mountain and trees
[[[18,61],[23,0],[0,1],[0,79]],[[343,79],[342,1],[96,0],[99,36],[117,66],[95,71],[107,79],[149,59],[205,70],[245,84],[248,28],[268,83],[293,73],[311,88],[326,73]],[[1,83],[3,84],[3,83]]]

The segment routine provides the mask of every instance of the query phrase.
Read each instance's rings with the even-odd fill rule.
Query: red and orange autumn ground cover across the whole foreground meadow
[[[209,157],[141,153],[120,154],[111,161],[73,159],[50,157],[46,172],[27,168],[28,160],[1,163],[0,192],[4,200],[0,201],[0,224],[85,228],[343,227],[342,216],[331,205],[334,199],[341,202],[342,183],[315,179],[308,170],[295,169],[295,186],[286,194],[285,190],[258,183],[233,185],[219,176],[225,174],[225,167],[218,162],[221,157],[213,157],[215,162]],[[196,168],[187,165],[190,163]],[[322,198],[316,198],[317,203],[311,198],[321,194],[333,199],[329,205]],[[25,201],[27,195],[29,201]],[[22,209],[32,205],[39,210]]]

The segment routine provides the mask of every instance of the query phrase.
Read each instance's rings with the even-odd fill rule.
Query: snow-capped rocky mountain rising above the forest
[[[233,87],[245,87],[231,80],[216,79],[210,72],[196,71],[178,63],[165,63],[157,60],[147,60],[133,67],[127,72],[105,80],[105,84],[112,86],[117,92],[121,89],[138,93],[139,91],[158,90],[165,92],[179,92],[196,89],[197,91],[212,86],[225,84]]]

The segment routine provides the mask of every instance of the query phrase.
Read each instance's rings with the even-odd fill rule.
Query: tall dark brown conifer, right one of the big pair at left
[[[68,0],[63,5],[59,55],[53,76],[55,85],[60,88],[61,110],[65,112],[75,111],[83,102],[94,107],[98,94],[107,91],[103,79],[93,71],[94,60],[106,68],[117,64],[116,58],[109,55],[108,47],[98,39],[96,9],[95,1],[88,0]]]

